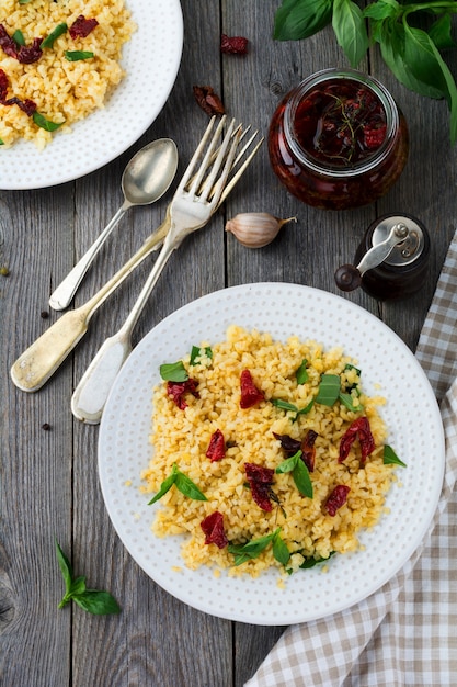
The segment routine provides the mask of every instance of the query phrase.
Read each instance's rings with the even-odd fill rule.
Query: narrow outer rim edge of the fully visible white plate
[[[102,417],[102,421],[101,421],[101,427],[100,427],[100,433],[99,433],[99,452],[98,452],[98,463],[99,463],[99,480],[100,480],[100,484],[101,484],[101,489],[102,489],[102,494],[103,494],[103,498],[104,498],[104,503],[105,503],[105,507],[107,509],[111,522],[117,533],[117,536],[119,537],[122,543],[124,544],[124,547],[127,549],[127,552],[129,553],[129,555],[136,561],[136,563],[139,565],[139,567],[151,578],[152,582],[155,582],[156,584],[158,584],[160,587],[162,587],[165,592],[168,592],[169,594],[171,594],[172,596],[174,596],[174,598],[178,598],[179,600],[181,600],[182,602],[197,609],[201,610],[203,612],[206,612],[208,615],[218,617],[218,618],[222,618],[222,619],[227,619],[227,620],[231,620],[231,621],[239,621],[239,622],[244,622],[244,623],[252,623],[252,624],[262,624],[262,626],[283,626],[283,624],[294,624],[294,623],[299,623],[299,622],[308,622],[308,621],[312,621],[312,620],[319,620],[321,618],[328,617],[329,615],[333,615],[335,612],[345,610],[347,608],[351,608],[353,606],[355,606],[356,604],[363,601],[364,599],[368,598],[369,596],[372,596],[372,594],[376,593],[377,590],[379,590],[386,583],[388,583],[390,579],[392,579],[397,573],[401,570],[401,567],[408,562],[408,560],[411,558],[411,555],[414,553],[414,551],[421,545],[421,543],[423,542],[424,538],[426,537],[431,523],[433,521],[433,517],[434,514],[436,513],[437,506],[438,506],[438,502],[439,502],[439,496],[442,493],[442,487],[443,487],[443,481],[444,481],[444,473],[445,473],[445,441],[444,441],[444,428],[443,428],[443,423],[442,423],[442,418],[441,418],[441,414],[439,414],[439,408],[438,408],[438,404],[436,401],[436,397],[433,393],[433,390],[430,385],[430,382],[426,378],[426,374],[424,372],[424,370],[422,369],[421,364],[419,363],[418,359],[415,358],[415,356],[412,353],[412,351],[408,348],[408,346],[404,344],[404,341],[388,326],[386,325],[382,320],[380,320],[378,317],[376,317],[375,315],[373,315],[372,313],[369,313],[368,311],[366,311],[365,308],[363,308],[362,306],[359,306],[356,303],[353,303],[351,301],[349,301],[347,299],[343,299],[340,295],[333,294],[331,292],[327,292],[320,289],[316,289],[313,286],[307,286],[307,285],[302,285],[302,284],[297,284],[294,282],[253,282],[253,283],[247,283],[247,284],[238,284],[238,285],[233,285],[233,286],[228,286],[225,289],[220,289],[214,292],[210,292],[206,295],[203,295],[198,299],[195,299],[188,303],[186,303],[185,305],[181,306],[180,308],[178,308],[176,311],[170,313],[167,317],[164,317],[162,320],[160,320],[159,323],[157,323],[156,326],[153,326],[144,337],[142,339],[139,341],[139,344],[135,347],[132,356],[135,354],[140,354],[142,349],[145,347],[147,347],[148,340],[150,337],[152,337],[158,328],[161,328],[163,326],[167,326],[170,322],[172,322],[176,316],[179,317],[183,311],[186,311],[187,308],[192,308],[192,307],[198,307],[198,304],[202,303],[202,301],[212,301],[215,300],[217,297],[220,296],[227,296],[227,294],[230,293],[236,293],[237,291],[247,291],[247,290],[271,290],[271,289],[275,289],[275,290],[283,290],[284,288],[287,289],[293,289],[293,290],[297,290],[300,291],[301,293],[306,294],[308,293],[309,296],[311,295],[316,295],[316,294],[320,294],[320,295],[324,295],[325,299],[330,299],[334,302],[341,303],[342,301],[345,303],[345,305],[350,308],[350,309],[354,309],[354,312],[357,313],[362,313],[363,317],[366,317],[368,320],[373,320],[374,323],[377,324],[378,327],[380,327],[381,329],[388,329],[390,336],[393,337],[393,340],[396,340],[398,342],[398,345],[403,349],[403,351],[409,356],[410,361],[413,361],[413,364],[416,369],[416,371],[419,372],[420,376],[422,378],[422,382],[425,384],[425,387],[427,388],[427,393],[429,393],[429,398],[427,402],[430,401],[431,404],[433,405],[433,415],[434,415],[434,420],[436,423],[436,427],[435,429],[438,430],[438,441],[439,441],[439,447],[437,447],[437,449],[439,449],[439,454],[441,454],[441,461],[439,461],[439,475],[438,478],[435,480],[434,482],[434,488],[433,488],[433,497],[430,502],[430,506],[427,509],[429,516],[427,519],[424,520],[422,522],[422,526],[420,528],[420,537],[415,537],[415,539],[413,540],[415,543],[413,547],[410,547],[405,549],[407,554],[403,555],[401,558],[401,560],[398,562],[398,565],[395,566],[395,568],[392,567],[391,570],[389,570],[389,574],[379,578],[377,581],[377,583],[375,585],[373,585],[369,590],[367,593],[363,593],[359,595],[358,598],[355,598],[353,600],[351,600],[350,602],[343,602],[340,604],[339,606],[335,606],[334,608],[332,608],[331,611],[329,612],[324,612],[324,613],[315,613],[315,615],[302,615],[302,616],[298,616],[296,609],[293,609],[292,611],[289,610],[285,610],[283,609],[283,613],[279,617],[279,619],[277,617],[275,618],[260,618],[260,617],[255,617],[250,615],[249,617],[245,616],[245,609],[242,611],[238,611],[238,612],[227,612],[227,611],[220,611],[220,609],[217,608],[212,608],[208,607],[205,604],[202,602],[196,602],[194,596],[192,595],[192,593],[187,593],[187,594],[176,594],[175,590],[172,588],[173,584],[169,583],[168,581],[164,583],[163,581],[158,581],[156,577],[153,577],[153,575],[150,574],[150,572],[148,570],[145,568],[142,559],[140,555],[138,555],[137,551],[133,551],[132,548],[128,545],[128,543],[126,543],[126,541],[124,540],[124,537],[122,534],[122,531],[119,531],[121,528],[118,528],[118,522],[116,520],[116,517],[113,518],[113,514],[110,509],[108,503],[107,503],[107,493],[106,493],[106,485],[105,485],[105,478],[103,475],[103,466],[102,466],[102,460],[101,460],[101,452],[102,452],[102,443],[103,443],[103,437],[104,437],[104,424],[105,424],[105,413],[106,409],[108,409],[112,398],[115,397],[116,394],[116,383],[118,382],[123,370],[121,371],[115,385],[113,386],[111,394],[108,396],[107,403],[106,403],[106,408],[105,408],[105,413]],[[235,323],[233,323],[235,324]],[[252,327],[252,328],[258,328],[258,327]],[[290,336],[289,334],[287,334],[287,336]],[[277,338],[277,337],[274,337]],[[327,346],[325,342],[323,342],[325,349],[329,348],[329,346]],[[350,354],[350,353],[349,353]],[[133,359],[135,360],[135,359]],[[133,364],[130,362],[130,364]],[[126,368],[126,370],[128,370],[128,368]],[[125,372],[126,373],[126,372]],[[432,412],[432,408],[431,408]],[[146,465],[145,465],[146,468]],[[152,516],[150,517],[150,522],[152,521]],[[153,536],[151,534],[151,537],[153,538]],[[357,552],[358,553],[358,552]],[[345,554],[346,556],[350,556],[351,554]],[[181,560],[176,561],[176,565],[183,562]],[[183,564],[184,565],[184,564]],[[315,568],[316,570],[316,568]],[[192,571],[191,571],[192,572]],[[313,572],[313,571],[307,571],[307,573],[309,572]],[[193,573],[198,573],[198,571],[193,571]],[[294,578],[295,576],[293,576]],[[244,582],[247,582],[247,584],[252,584],[252,581],[245,576],[245,578],[243,577],[242,579],[244,579]],[[287,582],[287,584],[290,584],[289,582]]]

